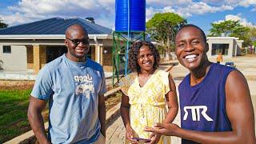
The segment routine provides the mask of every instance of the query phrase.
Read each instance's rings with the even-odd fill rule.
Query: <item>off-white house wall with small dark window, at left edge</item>
[[[26,46],[10,46],[11,53],[3,53],[0,46],[0,65],[3,70],[26,70]]]

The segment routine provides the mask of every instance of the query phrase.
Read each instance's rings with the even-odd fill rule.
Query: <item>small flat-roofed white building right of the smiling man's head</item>
[[[243,40],[234,37],[207,37],[209,51],[207,56],[209,58],[216,57],[221,53],[226,58],[241,55]]]

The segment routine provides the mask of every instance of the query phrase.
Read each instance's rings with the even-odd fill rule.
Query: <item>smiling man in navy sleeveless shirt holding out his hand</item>
[[[246,78],[238,70],[212,63],[206,35],[182,26],[175,38],[178,61],[190,74],[178,86],[181,128],[158,123],[146,131],[182,138],[182,143],[256,143],[254,109]]]

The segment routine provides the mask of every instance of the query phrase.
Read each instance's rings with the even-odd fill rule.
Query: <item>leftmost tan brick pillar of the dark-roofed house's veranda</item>
[[[40,63],[40,46],[39,45],[34,45],[33,46],[33,55],[34,55],[34,73],[38,74],[38,71],[41,68],[41,63]]]

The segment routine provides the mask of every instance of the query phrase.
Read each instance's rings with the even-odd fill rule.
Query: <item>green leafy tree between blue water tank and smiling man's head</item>
[[[170,52],[174,50],[174,38],[178,28],[184,24],[186,19],[174,13],[154,14],[154,17],[146,22],[146,32],[166,50],[166,59],[170,58]]]

